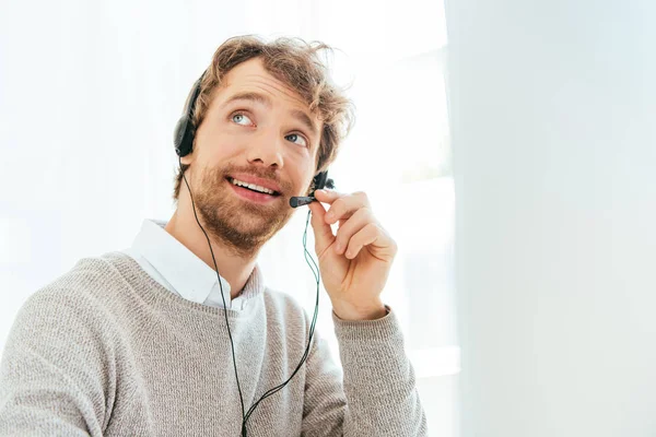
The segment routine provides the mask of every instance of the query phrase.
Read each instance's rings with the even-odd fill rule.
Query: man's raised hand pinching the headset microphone
[[[335,314],[344,320],[384,317],[380,293],[397,245],[374,216],[364,192],[317,190],[309,203],[315,251]],[[330,204],[328,211],[323,203]],[[331,224],[339,222],[337,235]]]

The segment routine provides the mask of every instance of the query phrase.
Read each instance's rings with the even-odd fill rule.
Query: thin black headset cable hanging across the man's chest
[[[179,156],[178,156],[178,158],[179,158]],[[179,163],[180,163],[180,173],[183,173],[181,158],[179,158]],[[309,270],[312,270],[312,273],[314,274],[315,280],[317,282],[317,298],[316,298],[316,303],[315,303],[315,310],[314,310],[314,315],[312,318],[312,323],[309,326],[309,336],[307,339],[307,346],[305,347],[305,353],[303,354],[301,362],[298,363],[298,365],[296,366],[296,368],[294,369],[292,375],[288,378],[288,380],[277,387],[273,387],[272,389],[268,390],[267,392],[265,392],[265,394],[262,394],[261,398],[258,399],[257,402],[255,402],[250,406],[250,409],[248,409],[248,412],[245,414],[244,413],[244,397],[242,394],[242,387],[239,385],[239,375],[237,373],[237,362],[235,358],[235,344],[233,342],[232,332],[230,330],[230,322],[227,321],[227,307],[225,306],[225,296],[223,295],[223,284],[221,283],[221,276],[219,275],[219,268],[216,267],[216,260],[214,259],[214,251],[212,250],[212,245],[210,244],[210,237],[208,237],[208,234],[201,226],[200,221],[198,220],[198,215],[196,215],[196,203],[194,203],[194,197],[191,196],[191,189],[189,188],[189,182],[187,182],[187,177],[185,176],[184,173],[183,173],[183,178],[185,179],[185,184],[187,185],[187,189],[189,190],[189,197],[191,198],[191,205],[194,206],[194,216],[196,217],[196,223],[198,223],[198,226],[200,226],[200,229],[204,234],[204,236],[208,240],[208,245],[210,246],[210,253],[212,253],[212,261],[214,262],[214,270],[216,271],[216,277],[219,279],[219,286],[221,287],[221,298],[223,299],[223,308],[225,309],[223,311],[223,314],[225,315],[225,326],[227,327],[227,335],[230,338],[230,346],[232,350],[233,366],[235,369],[235,378],[237,380],[237,391],[239,392],[239,402],[242,404],[242,432],[241,432],[241,434],[242,434],[242,437],[247,437],[246,422],[248,421],[248,418],[250,418],[250,415],[255,412],[255,409],[257,409],[257,406],[260,404],[261,401],[276,394],[278,391],[282,390],[284,388],[284,386],[286,386],[292,380],[292,378],[298,373],[298,370],[301,369],[301,367],[303,366],[303,364],[305,363],[305,361],[307,359],[307,356],[309,354],[309,346],[312,344],[312,339],[314,338],[314,331],[315,331],[315,327],[317,323],[317,316],[319,312],[319,283],[320,283],[320,277],[321,277],[319,268],[317,267],[317,263],[315,262],[312,255],[307,251],[307,225],[309,223],[309,216],[311,216],[312,212],[307,211],[307,218],[305,221],[305,231],[303,233],[303,251],[304,251],[304,256],[305,256],[305,262],[307,262],[307,265],[309,265]],[[309,257],[309,260],[312,261],[312,264],[314,264],[314,268],[307,261],[308,257]]]

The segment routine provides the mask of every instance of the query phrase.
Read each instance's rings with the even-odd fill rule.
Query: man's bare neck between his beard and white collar
[[[183,213],[180,208],[178,208],[166,224],[166,232],[185,245],[187,249],[191,250],[194,255],[200,258],[212,270],[214,270],[213,252],[219,273],[230,284],[230,295],[234,299],[239,295],[244,285],[246,285],[246,281],[248,281],[255,268],[257,252],[249,257],[235,256],[234,251],[231,251],[224,244],[212,238],[212,235],[208,233],[210,244],[212,245],[212,251],[210,251],[208,238],[200,226],[198,226],[194,212],[190,208],[187,212],[188,214]],[[207,232],[207,227],[203,226],[203,228]]]

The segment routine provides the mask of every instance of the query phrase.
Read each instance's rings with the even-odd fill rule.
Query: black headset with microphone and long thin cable
[[[191,189],[189,188],[187,178],[186,178],[185,174],[183,173],[183,163],[181,163],[181,157],[191,153],[191,150],[194,147],[194,138],[196,134],[196,126],[194,126],[194,109],[196,108],[196,101],[198,99],[198,96],[200,95],[201,83],[202,83],[202,79],[203,79],[204,74],[206,74],[206,72],[203,72],[201,74],[201,76],[194,84],[194,91],[191,93],[190,98],[188,99],[188,102],[185,105],[183,116],[180,117],[180,119],[177,121],[177,123],[175,126],[173,142],[175,145],[175,152],[178,155],[180,173],[183,174],[185,184],[187,185],[187,189],[189,190],[189,196],[191,197],[191,203],[192,203],[192,209],[194,209],[194,215],[196,216],[196,222],[198,223],[198,226],[200,226],[201,231],[203,232],[203,234],[208,240],[208,245],[210,247],[210,252],[212,253],[212,260],[214,261],[214,270],[216,271],[216,277],[219,279],[219,286],[221,287],[221,298],[223,299],[223,308],[225,308],[225,296],[223,294],[223,285],[221,283],[221,277],[219,275],[219,268],[216,267],[216,260],[214,259],[214,252],[212,250],[212,245],[210,244],[210,238],[208,237],[208,234],[206,233],[206,231],[201,226],[200,222],[198,221],[198,215],[196,214],[196,204],[194,203],[194,197],[191,196]],[[290,206],[297,208],[297,206],[302,206],[302,205],[308,204],[311,202],[314,202],[316,200],[316,198],[314,197],[314,192],[316,190],[323,189],[325,187],[326,188],[335,188],[335,182],[332,181],[332,179],[328,178],[328,170],[320,172],[313,178],[309,196],[295,196],[295,197],[290,198]],[[294,369],[292,375],[289,377],[289,379],[285,380],[284,382],[282,382],[281,385],[265,392],[260,397],[260,399],[257,402],[255,402],[250,406],[250,409],[248,409],[248,411],[245,411],[245,408],[244,408],[244,397],[242,394],[242,387],[239,385],[239,376],[237,373],[237,363],[235,359],[235,345],[233,342],[232,332],[230,330],[230,323],[227,321],[227,311],[225,311],[225,310],[223,311],[225,315],[225,326],[227,328],[227,335],[230,338],[230,344],[231,344],[231,350],[232,350],[235,378],[237,380],[237,391],[239,392],[239,401],[242,403],[242,430],[241,430],[242,437],[247,437],[246,422],[248,421],[248,418],[250,417],[250,415],[253,414],[255,409],[259,405],[259,403],[261,401],[263,401],[265,399],[267,399],[268,397],[277,393],[282,388],[284,388],[284,386],[286,386],[289,383],[289,381],[292,380],[294,375],[296,375],[296,373],[301,369],[301,367],[303,366],[303,363],[305,363],[307,355],[309,354],[309,346],[312,344],[312,339],[314,336],[314,331],[315,331],[315,326],[316,326],[317,315],[318,315],[318,309],[319,309],[319,282],[320,282],[319,268],[317,267],[316,262],[312,258],[312,255],[307,251],[307,247],[306,247],[307,224],[309,222],[309,215],[311,215],[311,212],[308,211],[307,220],[305,222],[305,233],[303,234],[303,249],[305,252],[305,261],[307,262],[307,264],[309,265],[311,270],[313,271],[313,273],[315,275],[316,286],[317,286],[317,297],[316,297],[313,320],[312,320],[312,323],[309,327],[307,346],[305,349],[305,353],[303,354],[303,357],[301,358],[301,362],[298,363],[298,365],[296,366],[296,368]],[[309,263],[308,258],[312,261],[312,264]],[[313,268],[313,264],[314,264],[314,268]]]

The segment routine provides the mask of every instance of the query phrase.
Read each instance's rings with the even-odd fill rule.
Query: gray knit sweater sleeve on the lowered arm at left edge
[[[22,306],[0,364],[0,436],[102,436],[112,369],[83,300],[49,290]]]

